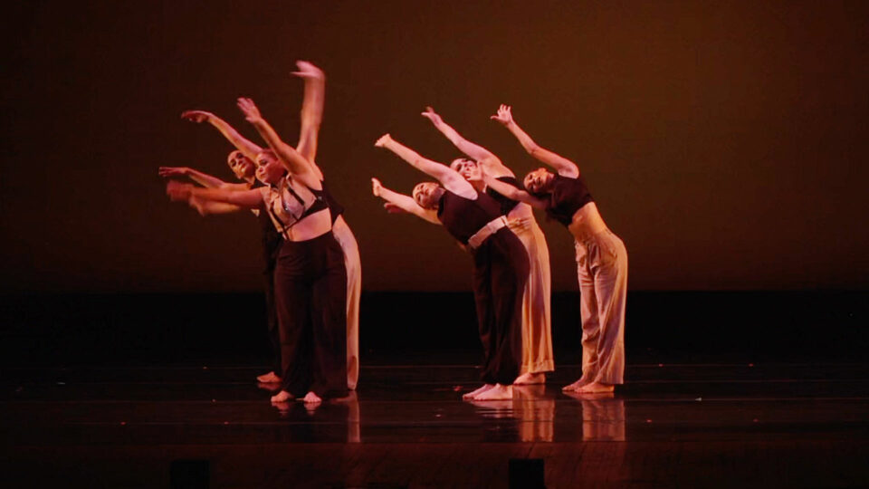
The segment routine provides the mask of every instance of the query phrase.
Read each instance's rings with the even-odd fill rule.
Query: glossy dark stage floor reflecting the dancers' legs
[[[630,365],[614,396],[549,384],[473,404],[463,365],[363,367],[358,392],[268,402],[245,366],[5,369],[6,487],[508,487],[540,458],[552,487],[864,487],[869,364]],[[203,465],[198,465],[202,467]]]

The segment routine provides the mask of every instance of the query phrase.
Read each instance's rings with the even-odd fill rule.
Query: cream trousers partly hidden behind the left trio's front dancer
[[[344,218],[332,225],[332,235],[344,252],[347,268],[347,387],[355,389],[359,380],[359,295],[362,292],[362,263],[359,245]]]

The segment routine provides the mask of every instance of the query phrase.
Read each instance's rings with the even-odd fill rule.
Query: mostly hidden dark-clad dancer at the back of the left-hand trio
[[[233,171],[235,177],[242,180],[244,183],[227,183],[220,178],[186,167],[160,167],[158,173],[161,177],[189,177],[199,185],[206,188],[250,190],[262,185],[257,182],[254,175],[256,167],[253,164],[253,161],[251,161],[250,158],[245,157],[242,151],[238,149],[231,151],[229,157],[226,158],[226,163]],[[240,206],[234,206],[233,204],[203,200],[193,196],[188,199],[188,204],[196,208],[199,214],[203,216],[208,214],[237,212],[243,208]],[[256,379],[264,384],[272,384],[281,382],[281,378],[278,377],[278,374],[281,372],[281,338],[280,331],[278,330],[278,316],[274,309],[274,267],[277,260],[277,252],[281,249],[282,238],[274,228],[272,219],[268,216],[268,213],[259,212],[258,209],[253,209],[253,214],[257,216],[257,219],[260,222],[261,235],[263,236],[263,291],[265,292],[265,317],[266,326],[268,328],[269,343],[272,345],[272,369],[263,375],[258,375]]]

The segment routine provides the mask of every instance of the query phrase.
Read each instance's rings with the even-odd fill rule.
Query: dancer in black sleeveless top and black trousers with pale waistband
[[[512,398],[512,383],[521,362],[521,299],[528,277],[528,255],[519,238],[507,228],[501,206],[477,192],[454,169],[426,159],[388,134],[375,143],[411,166],[437,178],[414,188],[412,202],[372,180],[373,191],[407,212],[439,222],[473,256],[473,292],[483,347],[484,385],[463,398],[498,400]],[[443,187],[442,187],[443,186]],[[414,206],[421,207],[415,210]]]

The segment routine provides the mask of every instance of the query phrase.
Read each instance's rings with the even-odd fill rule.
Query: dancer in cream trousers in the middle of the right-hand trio
[[[422,115],[425,119],[431,120],[435,129],[441,131],[457,149],[472,158],[456,158],[450,164],[450,168],[459,172],[478,192],[485,192],[494,197],[501,204],[501,214],[511,221],[521,223],[521,225],[511,226],[511,231],[519,236],[528,252],[530,273],[522,295],[522,365],[520,376],[513,383],[543,384],[546,382],[544,372],[555,369],[549,312],[551,290],[549,249],[543,231],[534,219],[531,206],[504,197],[483,181],[482,174],[485,173],[513,187],[519,187],[516,176],[510,168],[504,166],[500,158],[488,149],[464,139],[431,107],[426,107]]]

